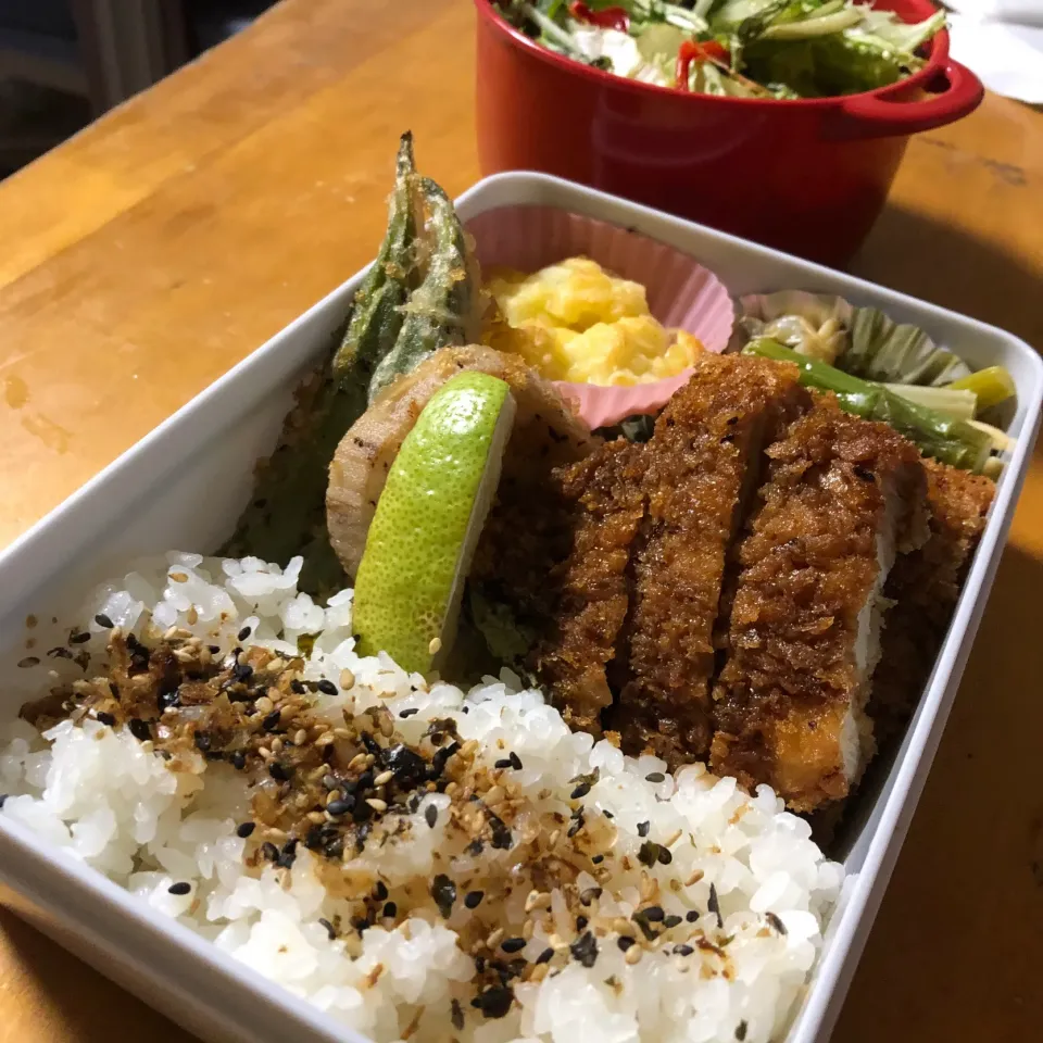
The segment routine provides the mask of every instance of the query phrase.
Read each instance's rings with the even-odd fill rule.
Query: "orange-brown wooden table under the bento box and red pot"
[[[468,0],[290,0],[0,185],[0,541],[372,255],[402,129],[478,177],[470,38]],[[918,138],[855,269],[1043,347],[1043,115]],[[1041,591],[1038,452],[839,1041],[1040,1039]],[[0,1043],[114,1038],[187,1041],[0,912]]]

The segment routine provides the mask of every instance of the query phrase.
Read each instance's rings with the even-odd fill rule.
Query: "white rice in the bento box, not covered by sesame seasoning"
[[[515,751],[524,764],[513,774],[515,781],[533,804],[560,806],[566,815],[571,780],[600,769],[583,803],[588,813],[612,813],[618,830],[616,872],[604,885],[601,913],[628,917],[639,905],[646,871],[662,883],[666,915],[698,912],[696,926],[707,940],[724,944],[727,956],[700,948],[677,954],[667,944],[631,964],[618,935],[610,932],[598,938],[593,967],[573,959],[540,983],[516,984],[517,1002],[506,1017],[486,1020],[462,1001],[467,1018],[461,1032],[450,1026],[450,1000],[474,995],[473,989],[466,992],[474,963],[457,947],[456,930],[475,914],[457,902],[443,920],[431,903],[394,930],[366,930],[361,956],[351,958],[345,942],[331,941],[319,922],[343,916],[347,907],[326,893],[315,856],[302,847],[291,870],[243,865],[247,841],[237,837],[236,827],[250,817],[249,792],[242,775],[225,764],[200,757],[192,772],[174,774],[151,745],[126,729],[66,720],[50,729],[45,742],[29,725],[15,721],[0,728],[0,793],[10,794],[0,815],[381,1043],[401,1039],[417,1021],[409,1038],[419,1043],[451,1036],[475,1043],[766,1043],[784,1036],[843,875],[825,859],[806,822],[784,812],[767,787],[750,797],[734,780],[716,779],[702,765],[670,777],[653,757],[625,757],[606,741],[571,733],[540,693],[520,690],[510,671],[464,693],[447,683],[428,689],[423,678],[406,675],[385,655],[359,657],[350,629],[351,592],[338,594],[326,608],[314,604],[297,591],[300,564],[296,560],[284,571],[251,558],[171,553],[138,563],[99,588],[68,624],[90,632],[80,648],[97,654],[104,652],[104,628],[90,620],[99,613],[139,636],[151,617],[161,629],[181,626],[223,649],[237,643],[244,626],[252,628],[251,643],[294,654],[299,636],[317,634],[306,676],[338,686],[336,696],[317,696],[324,713],[339,717],[345,708],[359,713],[379,703],[395,715],[415,709],[397,721],[411,742],[419,741],[433,718],[451,716],[463,739],[478,740],[490,765]],[[67,626],[50,633],[40,627],[36,648],[67,637]],[[84,676],[74,663],[34,654],[41,659],[38,666],[28,661],[12,671],[12,683],[26,698],[55,682],[48,670],[63,679]],[[344,670],[355,678],[349,691],[339,687]],[[662,781],[655,781],[658,772]],[[448,804],[449,797],[425,799],[411,816],[416,821],[407,843],[380,850],[368,844],[351,864],[379,871],[392,897],[411,878],[430,880],[440,871],[435,866],[441,821],[428,828],[428,803]],[[644,822],[649,826],[639,835]],[[638,853],[645,839],[669,844],[673,862],[643,869]],[[629,869],[621,865],[625,855]],[[454,854],[453,867],[466,857]],[[510,871],[508,851],[487,849],[477,857],[499,859],[504,876]],[[287,879],[280,882],[280,876]],[[175,882],[190,884],[189,893],[172,894]],[[578,882],[592,887],[596,881],[581,876]],[[708,912],[712,885],[719,925]],[[524,895],[499,913],[508,935],[523,933],[523,905]],[[551,912],[567,941],[575,931],[558,917],[564,912],[558,892]],[[522,955],[536,959],[553,941],[549,933],[538,926]]]

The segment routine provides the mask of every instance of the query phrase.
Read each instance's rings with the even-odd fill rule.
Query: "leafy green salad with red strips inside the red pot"
[[[544,47],[619,76],[733,97],[874,90],[922,66],[945,25],[854,0],[493,0]]]

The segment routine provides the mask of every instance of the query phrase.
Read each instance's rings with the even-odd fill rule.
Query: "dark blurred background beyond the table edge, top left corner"
[[[275,0],[0,0],[0,178]]]

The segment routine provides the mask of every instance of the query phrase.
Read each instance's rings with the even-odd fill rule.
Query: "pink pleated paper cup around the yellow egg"
[[[552,206],[501,206],[467,222],[478,263],[537,272],[585,256],[648,292],[649,310],[664,326],[683,329],[707,351],[721,352],[731,337],[736,313],[720,279],[694,257],[637,231]],[[555,381],[591,428],[608,427],[628,416],[654,413],[688,382],[690,370],[631,387]]]

